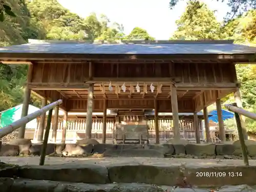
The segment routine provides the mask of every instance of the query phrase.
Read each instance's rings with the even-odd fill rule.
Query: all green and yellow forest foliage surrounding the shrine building
[[[176,21],[178,28],[170,39],[234,39],[239,44],[256,45],[255,1],[227,1],[232,10],[222,22],[218,22],[215,12],[204,3],[197,0],[188,1],[185,12]],[[57,0],[6,2],[4,3],[11,7],[15,16],[4,12],[4,7],[0,5],[0,19],[1,14],[4,14],[3,22],[0,22],[0,47],[24,44],[29,38],[88,41],[154,40],[146,30],[136,26],[130,34],[124,34],[124,26],[111,21],[106,15],[97,17],[92,13],[82,18],[63,8]],[[170,7],[174,7],[177,2],[178,0],[172,0]],[[238,2],[241,9],[237,9]],[[247,10],[246,5],[250,5],[252,9]],[[26,66],[0,65],[0,111],[22,103],[26,73]],[[242,83],[243,106],[256,112],[256,68],[253,65],[238,65],[237,74]],[[226,97],[223,102],[229,102],[230,99],[231,96]],[[40,100],[33,96],[31,103],[39,106]],[[256,123],[247,121],[248,129],[256,130]]]

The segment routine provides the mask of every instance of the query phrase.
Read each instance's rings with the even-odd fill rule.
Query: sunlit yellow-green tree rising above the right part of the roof
[[[176,24],[178,28],[170,39],[220,39],[220,23],[214,11],[197,0],[187,2],[186,10]]]

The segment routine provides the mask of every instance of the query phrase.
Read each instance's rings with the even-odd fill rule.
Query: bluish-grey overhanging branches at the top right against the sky
[[[170,0],[169,8],[173,9],[179,1],[183,0]],[[220,0],[216,0],[217,2]],[[241,15],[243,12],[247,12],[248,8],[255,9],[255,0],[222,0],[222,2],[227,2],[227,5],[231,7],[231,11],[227,13],[227,18],[232,19],[235,16]]]

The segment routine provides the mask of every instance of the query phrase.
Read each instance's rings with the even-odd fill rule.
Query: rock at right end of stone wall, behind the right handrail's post
[[[242,155],[242,148],[241,148],[240,140],[234,141],[233,145],[234,145],[234,148],[235,148],[234,152],[233,152],[233,155],[241,156]],[[254,141],[254,140],[245,140],[245,145],[247,147],[248,155],[251,156],[251,157],[255,157],[256,156],[256,141]]]

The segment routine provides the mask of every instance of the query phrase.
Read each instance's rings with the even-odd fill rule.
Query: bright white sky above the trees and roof
[[[227,0],[201,0],[208,8],[216,10],[216,17],[222,21],[229,11]],[[169,9],[169,0],[58,0],[71,12],[87,17],[95,12],[98,16],[105,14],[111,22],[124,26],[124,33],[129,34],[134,27],[140,27],[157,40],[166,40],[177,29],[175,21],[185,11],[186,1],[180,1],[173,9]]]

